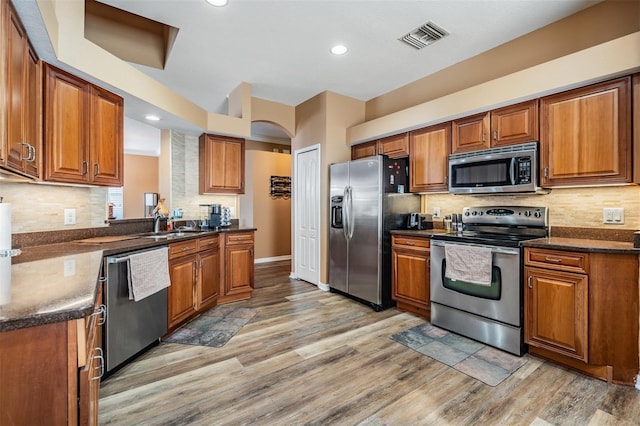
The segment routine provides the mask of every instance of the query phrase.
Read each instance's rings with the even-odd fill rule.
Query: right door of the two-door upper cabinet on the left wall
[[[120,96],[91,87],[91,181],[99,185],[122,186],[123,101]]]

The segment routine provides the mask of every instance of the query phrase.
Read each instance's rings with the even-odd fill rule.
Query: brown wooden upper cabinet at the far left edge
[[[40,177],[42,153],[41,65],[13,6],[0,6],[0,71],[4,100],[0,114],[0,166],[27,177]],[[6,137],[5,137],[6,135]]]

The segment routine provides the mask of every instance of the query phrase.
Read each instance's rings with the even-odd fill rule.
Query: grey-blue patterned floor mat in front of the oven
[[[526,355],[518,357],[503,352],[431,323],[396,333],[391,339],[489,386],[499,385],[527,363]]]

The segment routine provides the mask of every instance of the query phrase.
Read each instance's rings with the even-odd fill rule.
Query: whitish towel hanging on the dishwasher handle
[[[137,302],[171,285],[168,247],[132,253],[127,263],[129,300]]]

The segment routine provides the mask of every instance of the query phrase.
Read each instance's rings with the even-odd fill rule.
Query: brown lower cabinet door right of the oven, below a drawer
[[[525,268],[525,341],[588,361],[588,276]]]

